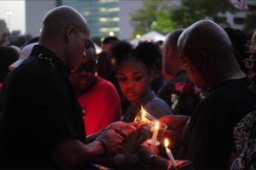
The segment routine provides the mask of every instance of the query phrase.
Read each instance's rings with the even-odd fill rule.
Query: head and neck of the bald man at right
[[[221,82],[245,77],[224,29],[210,20],[186,28],[177,42],[178,54],[191,82],[210,90]]]

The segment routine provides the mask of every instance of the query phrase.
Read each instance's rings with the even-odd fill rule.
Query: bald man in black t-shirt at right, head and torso
[[[232,130],[255,104],[247,78],[229,37],[212,21],[189,26],[177,47],[190,80],[209,93],[185,127],[180,158],[194,161],[196,168],[228,168]]]

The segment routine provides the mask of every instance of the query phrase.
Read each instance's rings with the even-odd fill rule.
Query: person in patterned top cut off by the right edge
[[[253,94],[256,95],[256,31],[254,31],[248,52],[250,58],[244,60],[249,70],[248,77],[252,82]],[[236,157],[232,162],[232,170],[256,169],[256,111],[244,116],[234,128],[234,154]]]

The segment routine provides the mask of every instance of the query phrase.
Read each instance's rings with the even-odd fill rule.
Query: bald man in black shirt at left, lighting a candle
[[[86,56],[89,35],[86,20],[73,8],[57,7],[44,16],[38,45],[3,83],[0,168],[87,167],[115,154],[135,131],[116,122],[85,144],[84,113],[68,75]]]

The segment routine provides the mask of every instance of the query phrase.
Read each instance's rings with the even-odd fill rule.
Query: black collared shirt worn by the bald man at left
[[[68,70],[40,45],[3,84],[0,168],[56,168],[49,152],[63,137],[85,141],[83,111]]]

